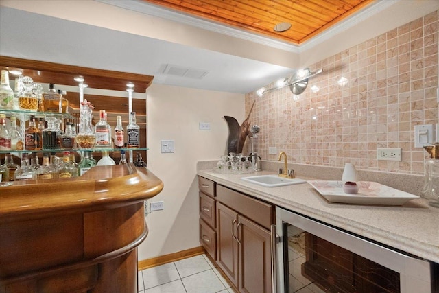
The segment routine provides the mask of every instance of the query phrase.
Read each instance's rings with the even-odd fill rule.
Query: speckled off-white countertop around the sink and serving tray
[[[430,207],[422,198],[392,207],[337,204],[325,200],[308,183],[271,188],[241,180],[241,177],[264,174],[274,173],[198,171],[199,176],[255,198],[439,263],[439,209]]]

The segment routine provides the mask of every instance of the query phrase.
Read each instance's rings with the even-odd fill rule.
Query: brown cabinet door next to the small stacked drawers
[[[238,287],[238,246],[235,240],[237,213],[217,203],[217,264]]]

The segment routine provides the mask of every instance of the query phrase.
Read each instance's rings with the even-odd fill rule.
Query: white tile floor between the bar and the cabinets
[[[139,271],[142,293],[233,293],[206,255],[197,255]]]

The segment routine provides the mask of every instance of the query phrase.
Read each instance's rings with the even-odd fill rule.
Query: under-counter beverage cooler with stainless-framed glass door
[[[438,263],[276,207],[273,292],[438,293]]]

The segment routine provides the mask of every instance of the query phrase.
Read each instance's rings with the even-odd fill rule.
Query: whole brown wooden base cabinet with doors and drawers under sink
[[[271,292],[270,226],[274,223],[274,207],[233,189],[206,182],[200,184],[200,241],[211,255],[208,235],[216,234],[213,259],[239,292]],[[205,185],[204,187],[202,185]],[[214,196],[206,196],[206,191]],[[202,209],[216,206],[216,212]],[[215,216],[216,224],[206,224]],[[204,225],[204,226],[203,226]],[[210,233],[209,234],[209,229]]]

